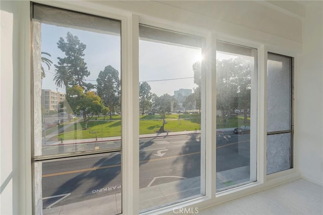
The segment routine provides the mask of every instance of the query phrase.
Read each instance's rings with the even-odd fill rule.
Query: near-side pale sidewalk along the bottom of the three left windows
[[[217,173],[217,189],[244,183],[248,180],[249,167],[240,167],[219,172]],[[163,204],[198,196],[199,194],[200,177],[145,187],[139,190],[139,209],[147,210],[156,206],[162,206]],[[106,195],[99,198],[43,209],[43,214],[118,214],[122,212],[121,198],[121,193]]]

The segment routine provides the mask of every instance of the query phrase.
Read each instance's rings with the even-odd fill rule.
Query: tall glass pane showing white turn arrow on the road
[[[140,26],[140,210],[161,207],[201,188],[202,39]],[[205,162],[203,162],[205,163]]]

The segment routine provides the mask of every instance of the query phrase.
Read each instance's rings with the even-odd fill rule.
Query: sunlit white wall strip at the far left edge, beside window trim
[[[13,64],[17,57],[17,27],[14,27],[17,10],[8,2],[1,3],[1,75],[0,75],[0,150],[1,150],[1,214],[17,213],[13,206],[17,198],[17,141],[13,135],[14,123],[14,76],[17,74],[17,65]],[[6,32],[6,33],[4,33]],[[17,103],[16,103],[17,104]],[[17,156],[16,156],[17,157]]]

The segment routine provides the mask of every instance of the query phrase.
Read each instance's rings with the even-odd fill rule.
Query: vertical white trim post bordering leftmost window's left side
[[[32,167],[30,165],[31,157],[31,61],[30,61],[30,40],[31,40],[31,28],[30,28],[30,2],[20,2],[20,20],[21,31],[20,35],[20,47],[23,47],[24,51],[20,51],[20,73],[19,73],[19,93],[21,108],[19,109],[19,118],[21,119],[19,128],[19,204],[17,211],[20,214],[32,213]]]

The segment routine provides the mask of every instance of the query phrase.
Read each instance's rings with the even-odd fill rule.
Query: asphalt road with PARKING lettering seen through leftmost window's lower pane
[[[46,168],[61,170],[42,178],[43,197],[71,193],[53,207],[121,192],[121,154],[109,154],[43,163]],[[68,167],[68,168],[67,168]],[[57,198],[43,200],[43,208]]]

